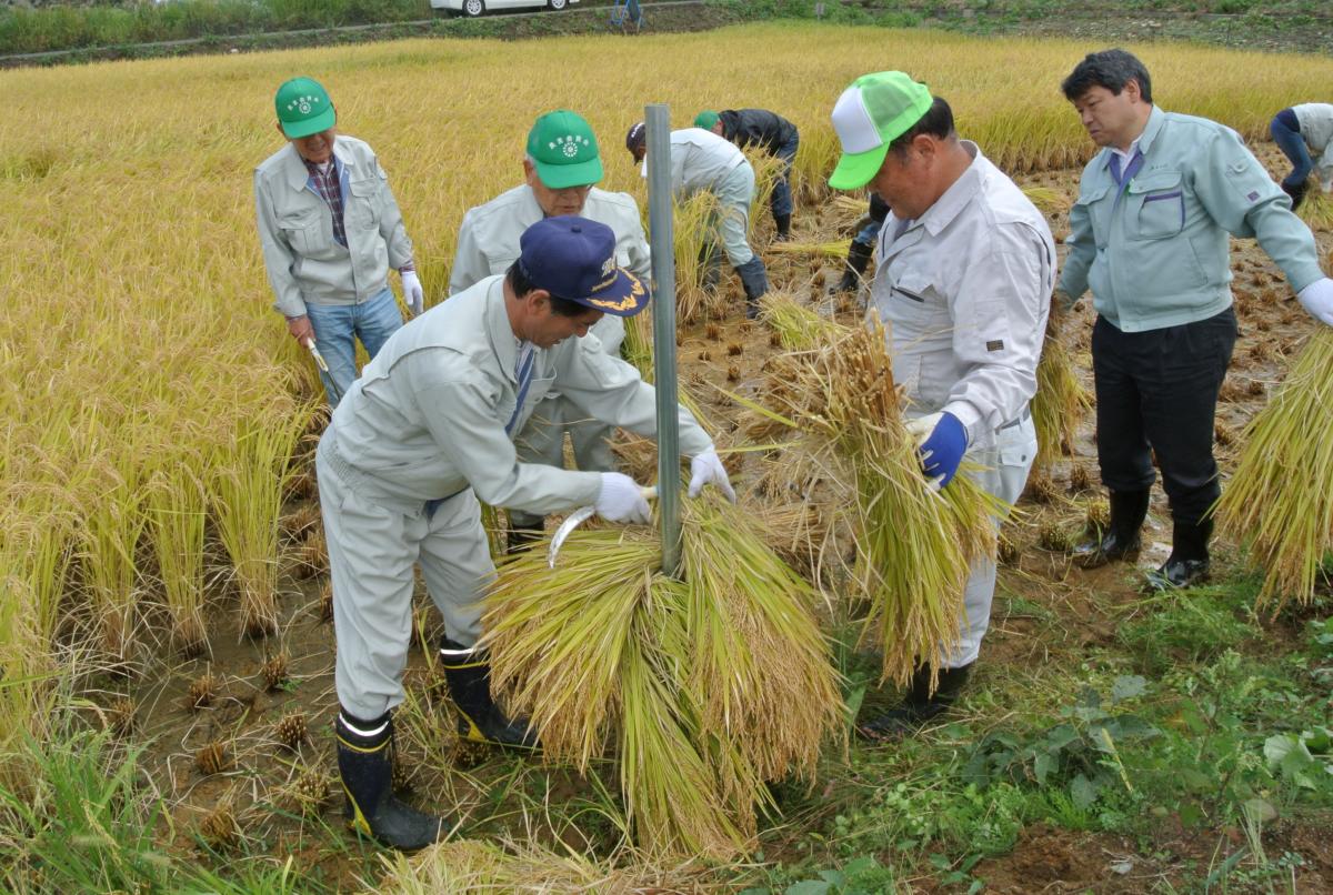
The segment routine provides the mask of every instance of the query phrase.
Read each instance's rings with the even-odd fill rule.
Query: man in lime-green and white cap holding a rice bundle
[[[1054,285],[1046,221],[974,143],[958,139],[949,104],[902,72],[853,81],[833,108],[833,128],[842,157],[829,185],[869,186],[892,209],[870,297],[889,324],[922,486],[948,487],[966,458],[976,471],[965,475],[1013,503],[1037,453],[1028,401]],[[993,559],[973,565],[957,642],[936,669],[938,689],[930,691],[922,665],[901,706],[861,721],[864,735],[901,735],[953,702],[980,653],[994,582]]]

